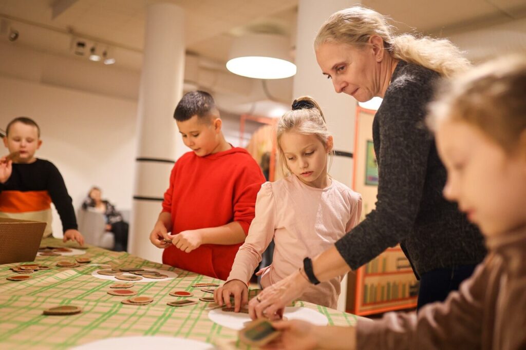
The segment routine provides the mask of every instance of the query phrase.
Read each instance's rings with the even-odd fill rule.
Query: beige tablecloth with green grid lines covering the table
[[[42,242],[43,245],[74,248],[72,244],[53,238]],[[125,297],[109,295],[107,291],[113,283],[129,282],[96,279],[91,275],[103,267],[89,264],[73,269],[55,266],[57,261],[73,260],[76,256],[89,256],[92,259],[89,264],[155,268],[174,271],[179,276],[163,282],[134,282],[131,289],[137,291],[137,295],[153,297],[154,302],[140,306],[124,305],[120,301]],[[9,268],[20,263],[0,265],[0,348],[63,349],[102,338],[137,335],[178,336],[218,345],[239,345],[237,331],[209,320],[208,310],[215,304],[166,305],[168,301],[181,299],[168,295],[170,291],[191,291],[194,293],[192,298],[198,300],[200,296],[211,294],[191,285],[200,282],[221,284],[220,280],[93,246],[84,255],[37,256],[35,260],[52,269],[34,272],[31,279],[21,282],[6,280],[8,276],[18,275]],[[251,290],[250,296],[257,292]],[[45,308],[69,304],[82,307],[83,312],[69,316],[42,314]],[[301,304],[326,315],[330,324],[356,324],[355,315],[315,304]]]

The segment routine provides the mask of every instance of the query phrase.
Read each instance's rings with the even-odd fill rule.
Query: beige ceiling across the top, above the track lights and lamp
[[[142,52],[146,8],[160,0],[0,0],[0,17]],[[330,0],[327,0],[330,1]],[[185,11],[187,51],[225,63],[232,38],[279,32],[294,47],[297,0],[164,0]],[[320,6],[322,6],[320,0]],[[363,0],[400,31],[450,35],[526,16],[524,0]]]

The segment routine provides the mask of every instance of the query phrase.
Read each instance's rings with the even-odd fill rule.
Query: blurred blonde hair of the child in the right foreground
[[[490,61],[444,81],[430,104],[428,126],[450,118],[478,127],[508,153],[526,131],[526,56]]]

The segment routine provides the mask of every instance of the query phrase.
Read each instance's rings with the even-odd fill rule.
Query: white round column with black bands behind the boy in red
[[[162,250],[150,243],[149,233],[161,211],[170,170],[185,151],[173,118],[183,96],[184,67],[183,9],[169,3],[148,5],[128,251],[156,262],[161,261]]]

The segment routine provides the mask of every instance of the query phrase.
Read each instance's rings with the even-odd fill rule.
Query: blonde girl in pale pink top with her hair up
[[[281,165],[290,175],[261,186],[245,243],[227,282],[214,293],[219,305],[229,307],[234,296],[236,312],[248,302],[248,282],[272,239],[272,264],[258,272],[264,288],[297,271],[306,256],[329,248],[360,219],[360,194],[328,175],[332,136],[316,101],[294,101],[278,122],[277,141]],[[336,307],[342,277],[311,286],[300,299]]]

